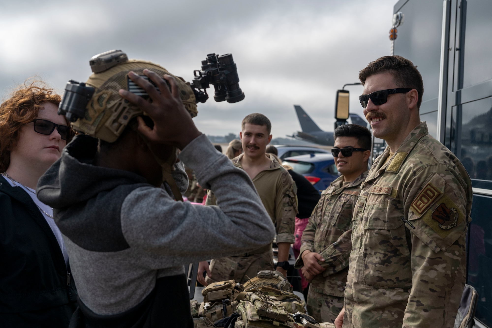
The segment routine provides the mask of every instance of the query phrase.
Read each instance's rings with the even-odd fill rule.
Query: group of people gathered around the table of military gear
[[[287,277],[291,248],[318,322],[454,327],[470,178],[420,121],[413,63],[381,57],[359,79],[372,134],[335,130],[339,177],[321,194],[277,157],[261,113],[223,155],[193,123],[189,84],[162,66],[92,74],[71,124],[42,81],[20,86],[0,105],[0,327],[191,328],[185,264],[204,286],[244,284]],[[388,147],[369,167],[372,135]]]

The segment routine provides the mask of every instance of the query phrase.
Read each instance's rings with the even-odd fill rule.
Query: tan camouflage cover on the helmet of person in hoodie
[[[145,68],[159,76],[174,76],[184,107],[191,117],[197,115],[195,95],[188,82],[169,73],[162,66],[131,59],[100,73],[92,73],[86,84],[95,89],[94,94],[87,104],[85,117],[72,123],[72,128],[107,142],[115,142],[132,118],[144,114],[139,107],[125,101],[118,92],[120,89],[128,90],[129,71],[143,75]]]

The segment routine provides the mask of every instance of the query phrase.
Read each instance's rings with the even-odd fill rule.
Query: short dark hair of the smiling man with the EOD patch
[[[424,82],[417,66],[401,56],[384,56],[370,62],[368,66],[362,69],[359,72],[359,80],[364,85],[369,76],[381,73],[391,73],[399,88],[417,90],[419,94],[417,108],[420,109],[422,95],[424,95]]]

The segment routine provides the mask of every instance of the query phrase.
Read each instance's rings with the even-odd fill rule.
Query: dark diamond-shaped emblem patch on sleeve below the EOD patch
[[[464,214],[460,208],[447,196],[443,195],[433,210],[429,210],[422,219],[441,238],[446,238],[454,227],[461,224]]]

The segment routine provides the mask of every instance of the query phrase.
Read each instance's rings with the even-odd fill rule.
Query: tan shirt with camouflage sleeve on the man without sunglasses
[[[244,154],[232,159],[232,163],[239,167]],[[267,154],[269,156],[269,154]],[[277,243],[295,241],[294,228],[297,215],[296,185],[289,172],[282,165],[270,157],[270,167],[258,173],[253,184],[263,202],[275,229],[277,230]],[[206,205],[215,205],[215,195],[209,191]]]

